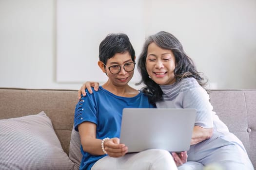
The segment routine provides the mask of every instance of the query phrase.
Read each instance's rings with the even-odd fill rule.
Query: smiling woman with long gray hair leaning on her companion
[[[197,109],[188,161],[204,166],[215,163],[224,170],[254,170],[242,142],[213,111],[204,89],[207,81],[173,34],[162,31],[149,36],[138,69],[140,83],[146,85],[144,94],[158,108]]]

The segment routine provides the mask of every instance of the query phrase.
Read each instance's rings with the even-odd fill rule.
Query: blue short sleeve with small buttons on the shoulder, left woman
[[[86,94],[86,96],[81,97],[75,108],[74,126],[76,131],[78,131],[78,125],[84,121],[90,121],[97,125],[98,112],[94,93],[90,94],[87,91]]]

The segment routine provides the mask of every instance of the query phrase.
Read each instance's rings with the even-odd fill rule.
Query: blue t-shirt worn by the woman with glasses
[[[127,98],[116,96],[99,86],[98,92],[93,90],[90,94],[86,90],[86,96],[82,97],[75,109],[75,130],[84,121],[90,121],[97,125],[96,138],[113,138],[120,136],[121,118],[123,108],[151,108],[154,107],[142,92],[135,97]],[[96,161],[106,155],[91,155],[84,152],[81,147],[82,160],[80,170],[91,170]]]

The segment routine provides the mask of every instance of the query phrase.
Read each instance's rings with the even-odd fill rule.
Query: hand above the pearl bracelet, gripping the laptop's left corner
[[[128,152],[128,147],[120,144],[120,140],[117,137],[106,140],[104,148],[110,157],[121,157]]]

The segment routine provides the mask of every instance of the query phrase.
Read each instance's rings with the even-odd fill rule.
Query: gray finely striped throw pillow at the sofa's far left
[[[0,170],[73,170],[44,112],[0,120]]]

